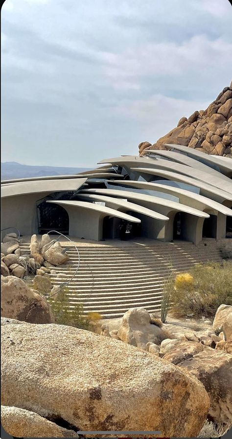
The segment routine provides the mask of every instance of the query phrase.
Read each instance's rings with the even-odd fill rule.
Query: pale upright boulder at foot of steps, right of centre
[[[150,341],[160,344],[166,338],[162,328],[151,324],[151,316],[144,308],[131,308],[122,317],[118,337],[133,346],[146,350]]]

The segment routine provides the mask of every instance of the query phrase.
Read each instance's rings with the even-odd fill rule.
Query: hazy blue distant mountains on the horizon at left
[[[78,174],[91,168],[68,168],[60,166],[28,166],[17,162],[1,163],[1,180],[14,178],[44,177],[47,175]]]

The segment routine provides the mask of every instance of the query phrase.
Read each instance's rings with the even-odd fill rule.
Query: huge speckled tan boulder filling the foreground
[[[3,323],[3,405],[58,417],[82,431],[196,437],[202,428],[209,396],[181,368],[82,329]]]

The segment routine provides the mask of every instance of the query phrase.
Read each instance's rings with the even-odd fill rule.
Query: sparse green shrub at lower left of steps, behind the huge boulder
[[[57,297],[47,297],[57,324],[89,329],[90,319],[84,314],[82,303],[70,303],[68,288],[65,287]]]

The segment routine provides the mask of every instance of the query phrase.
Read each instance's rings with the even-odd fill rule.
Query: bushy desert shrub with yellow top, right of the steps
[[[196,265],[178,274],[172,283],[172,312],[177,316],[215,315],[222,304],[232,305],[232,265],[229,262]]]

